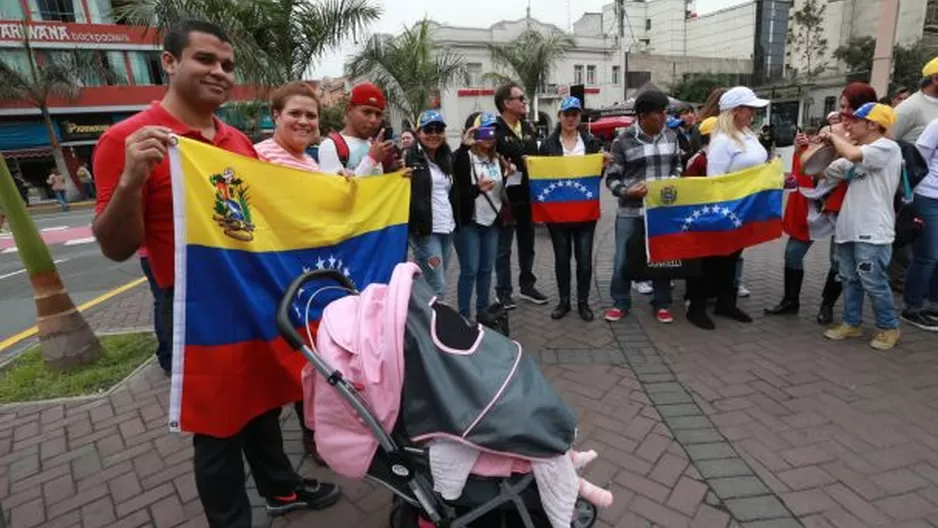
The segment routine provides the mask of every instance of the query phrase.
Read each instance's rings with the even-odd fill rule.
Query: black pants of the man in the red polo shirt
[[[163,331],[172,335],[173,289],[163,290]],[[261,497],[288,496],[299,487],[300,476],[283,452],[280,408],[271,409],[248,422],[228,438],[196,434],[195,485],[211,528],[250,528],[251,504],[244,488],[244,459],[247,459]],[[244,459],[241,454],[244,453]]]

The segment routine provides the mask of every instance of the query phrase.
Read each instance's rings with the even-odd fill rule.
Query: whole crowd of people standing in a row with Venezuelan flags
[[[92,172],[97,190],[95,236],[111,259],[122,261],[139,255],[152,278],[159,364],[167,374],[172,365],[175,280],[167,152],[174,134],[271,163],[345,178],[403,169],[412,188],[412,258],[436,295],[444,299],[455,250],[459,264],[455,304],[467,319],[477,318],[492,303],[493,274],[494,301],[509,310],[516,308],[513,254],[518,259],[519,297],[534,304],[549,302],[535,286],[535,225],[526,157],[603,152],[605,184],[618,199],[609,285],[613,305],[604,313],[610,322],[626,317],[633,308],[631,277],[625,265],[627,242],[634,233],[644,231],[647,183],[714,177],[772,158],[771,144],[766,143],[764,134],[760,137],[753,130],[754,116],[769,102],[742,86],[716,90],[700,111],[684,108],[670,119],[668,97],[657,91],[644,92],[635,100],[635,123],[604,152],[600,142],[583,131],[582,102],[572,97],[565,98],[557,109],[556,130],[538,144],[535,130],[525,119],[527,95],[514,83],[495,91],[495,113],[467,120],[457,149],[452,150],[446,142],[446,129],[451,125],[432,109],[420,114],[415,130],[401,134],[398,147],[384,134],[384,94],[363,83],[352,88],[345,126],[322,140],[317,160],[308,149],[320,134],[320,106],[306,83],[288,83],[272,94],[275,130],[260,143],[252,144],[216,117],[215,111],[235,84],[234,50],[221,28],[200,21],[174,25],[165,36],[162,64],[169,78],[165,97],[102,136]],[[836,116],[839,122],[812,137],[799,134],[800,149],[828,144],[839,159],[815,177],[799,173],[796,160],[793,179],[798,190],[791,193],[795,198],[789,199],[785,211],[789,239],[784,256],[784,297],[777,306],[766,309],[766,314],[798,312],[805,254],[816,240],[831,238],[830,271],[818,321],[833,322],[833,307],[841,290],[844,310],[843,322],[828,329],[825,336],[846,339],[860,335],[863,300],[868,295],[876,322],[872,346],[885,350],[896,344],[899,316],[887,268],[895,238],[893,197],[902,181],[903,154],[890,139],[892,133],[897,139],[915,143],[929,168],[927,177],[914,188],[912,207],[924,219],[924,229],[912,245],[902,318],[938,330],[938,59],[926,66],[923,77],[921,91],[897,110],[877,103],[869,86],[852,84],[842,94]],[[814,214],[817,211],[822,214]],[[829,224],[823,235],[815,231],[819,217]],[[553,247],[558,296],[550,316],[560,319],[573,309],[571,264],[575,263],[576,311],[583,321],[592,321],[589,296],[596,223],[546,227]],[[708,313],[708,301],[713,298],[715,315],[752,322],[737,304],[744,290],[741,253],[706,257],[704,276],[687,280],[687,319],[693,325],[708,330],[716,327]],[[650,285],[655,317],[664,324],[674,320],[670,311],[672,287],[670,280]],[[301,404],[297,406],[302,417]],[[196,484],[211,526],[250,526],[242,453],[272,514],[323,508],[338,499],[334,484],[302,478],[293,470],[283,453],[279,413],[279,408],[271,409],[230,438],[195,434]],[[314,434],[303,426],[307,449],[315,455]]]

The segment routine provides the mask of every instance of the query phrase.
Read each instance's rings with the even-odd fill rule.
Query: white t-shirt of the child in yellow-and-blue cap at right
[[[852,167],[835,162],[824,171],[825,176],[848,181],[834,242],[892,244],[896,238],[893,199],[901,179],[902,151],[887,138],[861,145],[860,151],[863,159]]]

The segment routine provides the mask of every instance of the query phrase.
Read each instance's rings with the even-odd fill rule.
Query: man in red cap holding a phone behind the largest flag
[[[319,168],[331,174],[383,174],[394,149],[392,141],[381,140],[386,106],[387,99],[377,86],[362,83],[353,87],[345,109],[345,128],[341,133],[330,133],[319,145]]]

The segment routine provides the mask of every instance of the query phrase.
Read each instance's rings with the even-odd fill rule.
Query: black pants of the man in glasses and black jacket
[[[498,233],[498,257],[495,259],[495,293],[511,295],[511,242],[518,236],[518,288],[522,291],[534,286],[534,222],[531,204],[512,203],[515,225],[502,227]]]

